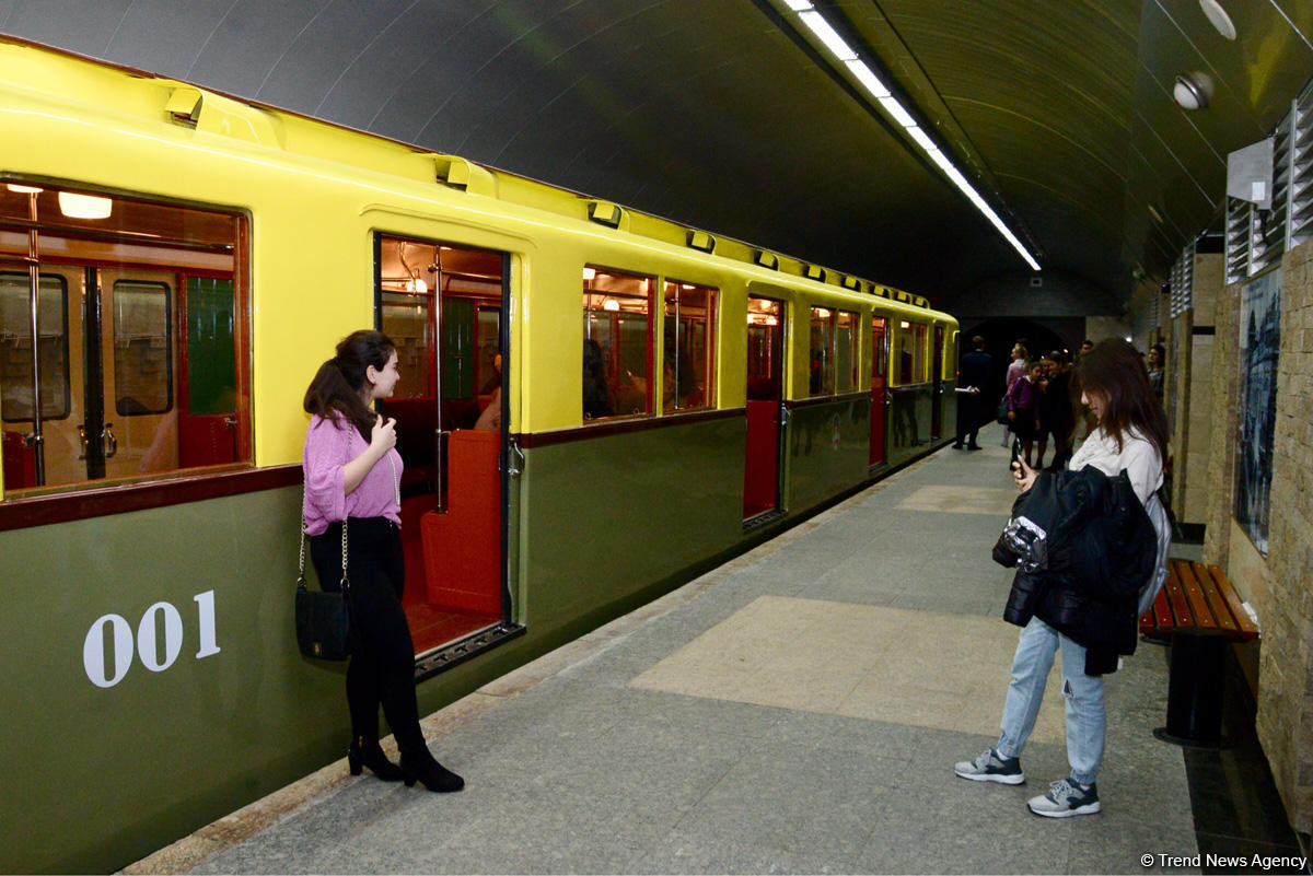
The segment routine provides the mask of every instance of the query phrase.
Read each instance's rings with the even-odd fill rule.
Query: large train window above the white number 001
[[[0,266],[21,273],[17,265],[34,258],[42,277],[59,275],[67,349],[63,416],[25,421],[34,434],[39,426],[39,443],[11,441],[5,430],[0,509],[9,511],[0,527],[32,525],[14,517],[24,508],[28,519],[49,522],[188,501],[181,485],[209,477],[226,480],[201,489],[242,492],[246,481],[230,476],[255,467],[249,227],[244,210],[140,191],[50,180],[0,189]],[[192,303],[193,278],[219,283]],[[68,295],[75,283],[80,298]],[[137,311],[146,323],[125,321],[134,316],[134,292],[154,290],[163,302],[146,299],[146,311]],[[123,307],[116,306],[119,292]],[[215,324],[197,337],[231,346],[231,357],[207,370],[205,409],[192,409],[188,320],[200,312]],[[163,386],[134,391],[123,371],[130,355],[140,355],[148,379]],[[144,401],[125,404],[123,392]]]

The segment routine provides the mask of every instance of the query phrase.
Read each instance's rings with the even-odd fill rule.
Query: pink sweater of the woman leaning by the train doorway
[[[306,502],[301,511],[306,518],[306,532],[320,535],[330,523],[348,517],[386,517],[397,526],[402,525],[400,509],[397,506],[402,456],[395,447],[369,469],[349,496],[343,490],[343,468],[366,450],[369,442],[351,424],[311,414],[301,462],[306,479]],[[389,458],[397,467],[397,481],[393,480]]]

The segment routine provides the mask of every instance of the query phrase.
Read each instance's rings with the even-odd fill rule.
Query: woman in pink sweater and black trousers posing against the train
[[[351,774],[369,767],[383,782],[460,791],[465,779],[433,759],[419,729],[415,645],[402,610],[406,561],[397,421],[385,421],[372,407],[393,393],[398,376],[397,348],[382,332],[348,334],[337,354],[319,366],[303,401],[310,428],[302,514],[310,560],[324,590],[337,591],[347,552],[351,622],[360,639],[347,665]],[[379,706],[397,737],[400,767],[378,745]]]

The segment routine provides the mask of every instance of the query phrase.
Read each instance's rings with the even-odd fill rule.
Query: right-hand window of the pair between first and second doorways
[[[662,410],[695,410],[716,401],[716,290],[666,281]]]

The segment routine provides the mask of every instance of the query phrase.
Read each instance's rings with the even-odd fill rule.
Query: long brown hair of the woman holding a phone
[[[1158,404],[1149,372],[1136,348],[1121,338],[1099,341],[1075,366],[1081,389],[1098,393],[1106,401],[1099,425],[1117,442],[1134,429],[1167,460],[1167,414]]]

